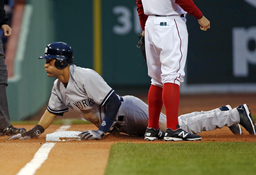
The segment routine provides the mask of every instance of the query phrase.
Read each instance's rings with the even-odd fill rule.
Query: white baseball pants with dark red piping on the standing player
[[[157,82],[180,85],[185,76],[188,34],[180,16],[149,16],[145,26],[145,48],[149,76]],[[160,26],[160,23],[166,26]],[[152,81],[152,84],[153,81]]]

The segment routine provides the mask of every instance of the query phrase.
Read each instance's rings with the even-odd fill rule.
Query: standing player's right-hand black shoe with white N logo
[[[202,139],[199,135],[195,135],[181,129],[179,124],[177,125],[177,128],[177,130],[167,128],[164,139],[166,141],[196,141]]]

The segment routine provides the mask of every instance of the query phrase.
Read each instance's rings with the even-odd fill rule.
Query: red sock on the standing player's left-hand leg
[[[163,107],[162,100],[162,91],[163,88],[160,88],[155,85],[151,85],[148,95],[149,103],[149,128],[154,128],[157,130],[159,128],[159,116],[161,109]]]

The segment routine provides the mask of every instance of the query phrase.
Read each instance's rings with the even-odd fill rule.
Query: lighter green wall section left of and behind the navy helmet
[[[54,78],[46,76],[43,55],[47,43],[55,41],[54,21],[48,1],[31,1],[25,6],[14,76],[6,88],[11,120],[21,120],[47,103]],[[8,59],[8,58],[7,58]]]

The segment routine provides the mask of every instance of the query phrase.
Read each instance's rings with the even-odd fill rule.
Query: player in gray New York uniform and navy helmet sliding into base
[[[73,50],[68,44],[54,42],[47,45],[45,55],[39,59],[46,59],[44,67],[47,75],[57,77],[47,110],[31,130],[7,139],[38,138],[50,126],[55,116],[63,116],[68,110],[78,111],[79,115],[99,128],[97,131],[82,132],[78,135],[81,140],[101,139],[107,132],[122,132],[137,136],[145,134],[148,124],[148,105],[130,95],[119,97],[94,70],[70,65],[73,63]],[[181,128],[192,133],[229,126],[234,134],[241,134],[238,123],[250,134],[255,135],[255,126],[247,105],[234,109],[227,105],[211,111],[179,116]],[[159,132],[161,134],[146,133],[148,140],[164,138],[166,116],[162,113],[160,113],[159,126],[162,130]],[[183,135],[185,136],[186,133]]]

